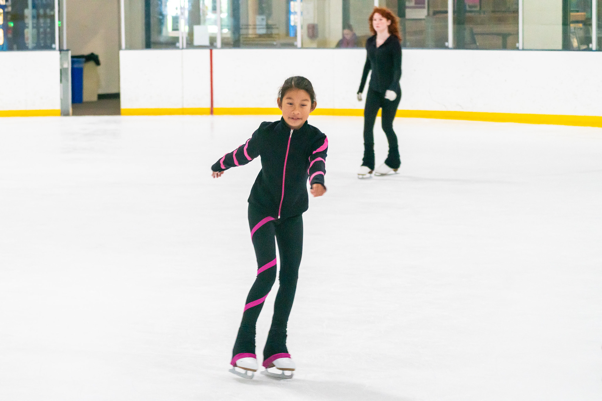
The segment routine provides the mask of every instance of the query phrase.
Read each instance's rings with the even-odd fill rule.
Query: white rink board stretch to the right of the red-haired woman
[[[602,115],[602,52],[403,51],[400,109]]]

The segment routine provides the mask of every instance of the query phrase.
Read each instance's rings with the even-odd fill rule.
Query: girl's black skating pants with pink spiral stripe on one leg
[[[280,286],[274,304],[272,326],[265,342],[264,361],[276,354],[288,354],[287,322],[297,289],[297,275],[303,250],[302,215],[286,219],[265,216],[249,204],[249,228],[257,258],[257,277],[245,303],[243,320],[232,350],[238,354],[255,354],[255,324],[265,298],[276,281],[276,241],[280,254]]]

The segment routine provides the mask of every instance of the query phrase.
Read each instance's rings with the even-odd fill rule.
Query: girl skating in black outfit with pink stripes
[[[249,196],[249,229],[257,259],[257,277],[244,306],[230,370],[243,378],[252,379],[253,372],[258,369],[255,324],[276,281],[275,238],[280,254],[280,287],[264,347],[262,365],[265,370],[261,373],[290,379],[295,370],[287,349],[287,322],[301,263],[302,215],[308,209],[308,178],[314,197],[326,192],[324,174],[328,139],[307,123],[316,104],[314,88],[308,79],[302,76],[288,78],[278,95],[282,118],[273,123],[261,123],[248,141],[211,166],[213,177],[218,178],[229,168],[245,165],[261,156],[261,171]],[[268,371],[272,367],[280,373]]]

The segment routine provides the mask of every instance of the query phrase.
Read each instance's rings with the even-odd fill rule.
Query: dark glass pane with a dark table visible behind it
[[[518,0],[455,0],[456,49],[518,49]]]

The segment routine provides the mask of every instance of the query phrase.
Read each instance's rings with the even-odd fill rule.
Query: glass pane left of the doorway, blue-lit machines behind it
[[[0,51],[55,49],[54,0],[0,0]]]

